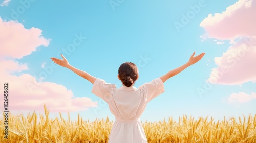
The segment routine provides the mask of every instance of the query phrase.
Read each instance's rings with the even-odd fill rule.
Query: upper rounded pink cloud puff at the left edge
[[[4,21],[0,17],[0,56],[20,59],[36,51],[39,46],[48,46],[49,39],[38,28],[26,29],[16,21]]]

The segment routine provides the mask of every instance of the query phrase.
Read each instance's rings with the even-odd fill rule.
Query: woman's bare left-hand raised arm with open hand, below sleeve
[[[62,59],[57,59],[57,58],[51,58],[52,61],[60,66],[63,67],[67,67],[68,69],[74,71],[74,73],[76,73],[77,75],[83,77],[84,79],[87,79],[88,81],[90,81],[92,84],[94,83],[94,81],[97,79],[93,76],[91,76],[90,74],[86,73],[85,71],[82,71],[80,69],[77,69],[75,67],[73,67],[72,65],[69,64],[68,60],[61,54]]]

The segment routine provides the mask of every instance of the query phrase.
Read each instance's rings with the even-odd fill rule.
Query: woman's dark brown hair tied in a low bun
[[[137,66],[132,62],[125,62],[120,65],[118,69],[118,75],[121,82],[130,87],[137,80],[139,76],[139,71]]]

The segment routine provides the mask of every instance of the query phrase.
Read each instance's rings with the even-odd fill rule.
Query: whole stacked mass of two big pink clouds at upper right
[[[232,44],[222,57],[216,57],[218,67],[212,69],[208,81],[217,84],[240,85],[256,80],[256,2],[239,0],[226,11],[211,14],[200,26],[201,37],[230,40]]]

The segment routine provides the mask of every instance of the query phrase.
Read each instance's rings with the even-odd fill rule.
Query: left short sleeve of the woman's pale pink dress
[[[93,83],[92,93],[108,102],[112,99],[111,89],[116,88],[115,84],[106,83],[102,79],[96,79]]]

